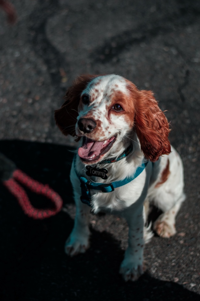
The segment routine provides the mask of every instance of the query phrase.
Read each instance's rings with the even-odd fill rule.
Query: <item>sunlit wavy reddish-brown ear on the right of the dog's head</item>
[[[144,157],[155,162],[171,152],[169,123],[151,91],[142,90],[135,104],[134,124]]]

